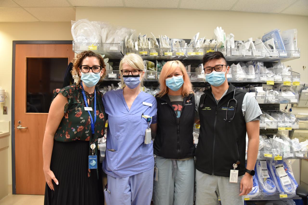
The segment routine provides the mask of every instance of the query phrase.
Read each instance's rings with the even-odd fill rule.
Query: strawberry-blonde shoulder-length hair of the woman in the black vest
[[[166,78],[170,74],[174,73],[174,71],[180,68],[183,73],[183,80],[184,84],[182,85],[182,96],[188,96],[190,93],[193,92],[193,85],[189,80],[188,74],[186,72],[185,66],[181,61],[168,61],[161,70],[160,77],[159,77],[159,84],[160,84],[160,92],[158,93],[158,97],[164,96],[168,93],[169,88],[166,86]]]

